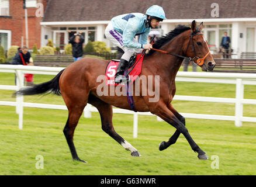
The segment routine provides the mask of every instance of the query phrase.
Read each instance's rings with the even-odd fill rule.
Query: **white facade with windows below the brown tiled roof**
[[[105,28],[110,21],[88,22],[41,22],[41,46],[46,46],[48,39],[52,39],[55,46],[63,49],[68,44],[70,33],[81,33],[85,37],[85,44],[91,41],[104,41],[108,47],[115,47],[105,39]],[[192,19],[168,19],[160,23],[160,33],[167,34],[178,24],[189,25]],[[231,39],[233,53],[256,52],[256,18],[227,18],[227,19],[196,19],[203,22],[203,34],[208,41],[212,53],[220,46],[220,42],[227,32]]]

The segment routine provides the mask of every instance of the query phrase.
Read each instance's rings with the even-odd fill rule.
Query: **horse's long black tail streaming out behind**
[[[40,93],[54,93],[56,95],[61,95],[60,92],[60,75],[63,73],[64,70],[61,70],[56,77],[51,79],[48,82],[43,82],[38,85],[34,85],[32,87],[28,88],[21,88],[19,91],[13,93],[13,96],[19,96],[19,95],[36,95]]]

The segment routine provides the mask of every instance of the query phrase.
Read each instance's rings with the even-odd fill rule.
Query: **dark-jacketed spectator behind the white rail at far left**
[[[33,59],[26,46],[23,46],[22,49],[18,48],[18,53],[12,59],[13,65],[34,65]],[[25,74],[26,86],[33,86],[33,74]],[[16,85],[16,74],[15,74],[15,85]]]

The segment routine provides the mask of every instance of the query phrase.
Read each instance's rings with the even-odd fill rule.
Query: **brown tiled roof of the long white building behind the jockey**
[[[212,19],[217,8],[213,2],[219,5],[218,18],[256,18],[255,0],[49,0],[43,22],[110,20],[124,13],[145,13],[151,5],[162,6],[167,19]]]

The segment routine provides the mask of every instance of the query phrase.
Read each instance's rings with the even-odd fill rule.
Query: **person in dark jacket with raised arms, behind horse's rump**
[[[81,34],[75,33],[68,43],[72,44],[72,55],[74,61],[82,58],[82,44],[84,43],[84,37]]]

